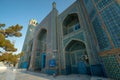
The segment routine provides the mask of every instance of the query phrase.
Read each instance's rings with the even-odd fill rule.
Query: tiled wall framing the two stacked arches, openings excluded
[[[88,57],[89,57],[89,63],[90,65],[92,64],[96,64],[98,63],[98,58],[96,56],[94,56],[95,53],[95,48],[94,45],[91,45],[91,37],[89,37],[89,33],[90,31],[87,30],[88,23],[86,22],[85,16],[83,15],[84,13],[81,10],[81,5],[79,1],[76,1],[75,3],[73,3],[70,7],[68,7],[63,13],[61,13],[58,16],[59,19],[59,27],[61,29],[61,35],[59,36],[61,39],[60,44],[60,57],[61,57],[61,69],[65,69],[66,67],[66,60],[65,60],[65,47],[72,41],[72,40],[78,40],[78,41],[82,41],[85,43],[86,47],[87,47],[87,53],[88,53]],[[68,35],[63,36],[63,22],[65,20],[65,18],[67,16],[69,16],[70,14],[77,14],[78,19],[79,19],[79,24],[81,26],[81,28],[78,31],[75,31],[73,33],[70,33]],[[86,24],[87,23],[87,24]],[[94,48],[94,50],[93,50]],[[98,55],[97,55],[98,56]]]

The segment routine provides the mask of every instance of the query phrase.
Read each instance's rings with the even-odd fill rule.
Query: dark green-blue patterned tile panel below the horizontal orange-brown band
[[[105,67],[107,76],[116,80],[120,79],[120,63],[116,59],[116,55],[102,56],[102,63]]]

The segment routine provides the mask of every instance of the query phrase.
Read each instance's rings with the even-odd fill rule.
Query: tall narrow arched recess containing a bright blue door
[[[37,48],[36,48],[36,60],[35,68],[36,70],[42,70],[45,68],[46,62],[46,39],[47,30],[42,28],[37,36]]]

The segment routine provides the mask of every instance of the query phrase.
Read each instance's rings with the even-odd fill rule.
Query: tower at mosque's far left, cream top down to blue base
[[[19,62],[19,68],[27,68],[29,62],[30,62],[30,56],[31,56],[31,49],[33,44],[33,36],[34,31],[37,26],[37,21],[35,19],[31,19],[28,24],[27,33],[25,36],[22,52],[24,52],[24,56],[21,57]]]

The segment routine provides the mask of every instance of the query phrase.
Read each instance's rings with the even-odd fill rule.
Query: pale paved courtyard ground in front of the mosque
[[[87,75],[60,75],[53,77],[51,75],[35,73],[29,71],[14,71],[7,69],[0,71],[0,80],[112,80],[100,77],[90,77]]]

